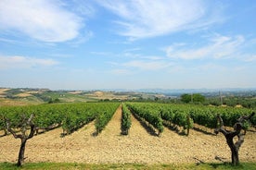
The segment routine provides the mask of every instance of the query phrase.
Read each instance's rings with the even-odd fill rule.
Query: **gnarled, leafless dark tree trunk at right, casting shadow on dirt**
[[[217,115],[217,121],[218,121],[218,127],[214,130],[216,134],[219,132],[222,132],[224,134],[225,140],[227,145],[229,146],[231,150],[231,158],[232,158],[232,164],[237,165],[239,164],[239,157],[238,157],[238,151],[242,143],[244,142],[244,136],[246,134],[247,127],[245,125],[248,125],[250,118],[255,115],[255,113],[251,113],[248,116],[241,116],[237,119],[237,123],[234,125],[234,130],[226,130],[224,129],[224,121],[221,117],[221,115]],[[244,132],[242,133],[242,129]],[[234,137],[238,138],[238,140],[234,143]]]

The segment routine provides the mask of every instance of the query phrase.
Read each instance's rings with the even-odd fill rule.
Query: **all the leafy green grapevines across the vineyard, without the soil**
[[[33,122],[37,129],[51,129],[62,126],[66,134],[83,127],[96,119],[96,132],[99,133],[109,122],[120,103],[55,103],[30,106],[0,107],[0,130],[6,132],[5,119],[10,120],[11,128],[20,127],[22,116],[34,114]],[[131,127],[129,109],[144,118],[154,128],[163,131],[163,121],[189,130],[193,123],[207,128],[216,128],[216,115],[224,120],[225,126],[232,127],[241,115],[250,115],[252,110],[234,107],[215,107],[170,103],[125,103],[122,104],[122,128]],[[127,114],[128,113],[128,114]],[[256,116],[251,119],[256,125]]]

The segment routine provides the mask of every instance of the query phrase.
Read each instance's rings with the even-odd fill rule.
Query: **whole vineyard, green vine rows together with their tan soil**
[[[232,127],[252,110],[171,103],[55,103],[0,107],[0,162],[15,162],[19,141],[7,135],[6,120],[19,130],[34,115],[38,134],[29,140],[28,162],[180,163],[219,156],[229,161],[224,137],[213,135],[216,116]],[[244,129],[256,125],[256,116]],[[199,129],[199,130],[195,130]],[[256,161],[255,128],[241,148]],[[186,136],[185,136],[186,135]],[[33,155],[35,152],[37,155]],[[153,158],[153,159],[152,159]]]

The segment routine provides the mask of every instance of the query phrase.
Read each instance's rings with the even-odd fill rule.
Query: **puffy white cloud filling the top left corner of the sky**
[[[1,0],[0,30],[19,31],[43,42],[72,40],[83,27],[82,18],[60,5],[50,0]]]

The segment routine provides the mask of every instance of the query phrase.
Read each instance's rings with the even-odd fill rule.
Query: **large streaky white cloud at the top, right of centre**
[[[120,1],[98,0],[119,16],[115,23],[122,26],[120,34],[132,39],[153,37],[179,30],[205,27],[219,20],[215,14],[218,6],[206,6],[201,0]]]

